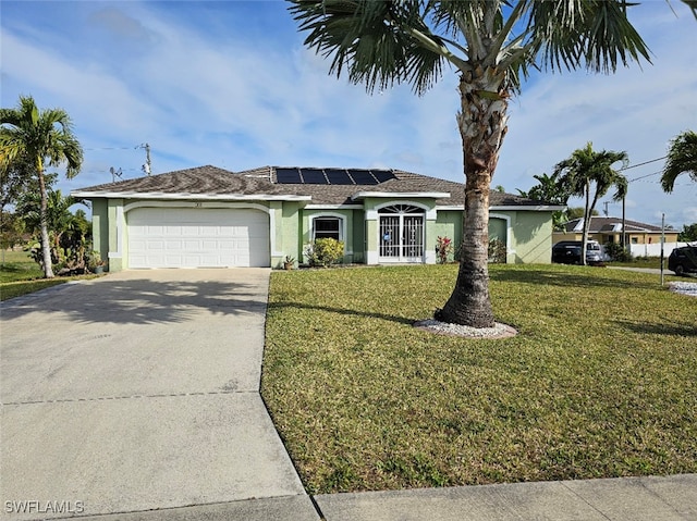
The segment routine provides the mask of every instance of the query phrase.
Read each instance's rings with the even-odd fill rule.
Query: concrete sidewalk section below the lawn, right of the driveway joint
[[[697,474],[463,486],[315,498],[327,521],[697,520]]]

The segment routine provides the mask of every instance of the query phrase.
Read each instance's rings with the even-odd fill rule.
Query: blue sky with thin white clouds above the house
[[[534,174],[551,173],[587,141],[644,163],[697,129],[697,22],[676,0],[649,0],[632,13],[653,64],[533,77],[510,104],[492,185],[528,189]],[[81,174],[61,178],[63,191],[111,182],[110,168],[123,178],[144,175],[146,142],[156,174],[273,164],[463,179],[454,72],[420,98],[406,85],[370,96],[328,75],[329,62],[303,47],[280,0],[3,0],[0,16],[2,107],[32,95],[41,108],[66,110],[85,149]],[[697,222],[697,184],[685,175],[663,194],[651,175],[662,165],[625,172],[638,178],[627,219]],[[621,206],[609,211],[620,215]]]

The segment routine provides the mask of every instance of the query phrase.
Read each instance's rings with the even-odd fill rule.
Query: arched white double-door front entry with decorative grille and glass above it
[[[424,262],[423,210],[393,204],[379,214],[380,262]]]

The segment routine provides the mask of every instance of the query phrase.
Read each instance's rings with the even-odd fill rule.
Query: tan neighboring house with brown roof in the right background
[[[554,232],[554,244],[560,240],[580,240],[583,233],[583,219],[568,221],[564,232]],[[637,221],[625,220],[625,234],[627,245],[650,245],[661,241],[661,227]],[[665,230],[665,243],[675,243],[678,232]],[[608,243],[622,244],[622,218],[590,218],[588,238],[597,240],[601,245]]]

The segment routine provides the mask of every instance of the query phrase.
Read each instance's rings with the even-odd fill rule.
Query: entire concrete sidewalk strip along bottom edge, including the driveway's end
[[[252,499],[82,521],[694,521],[697,474]]]

